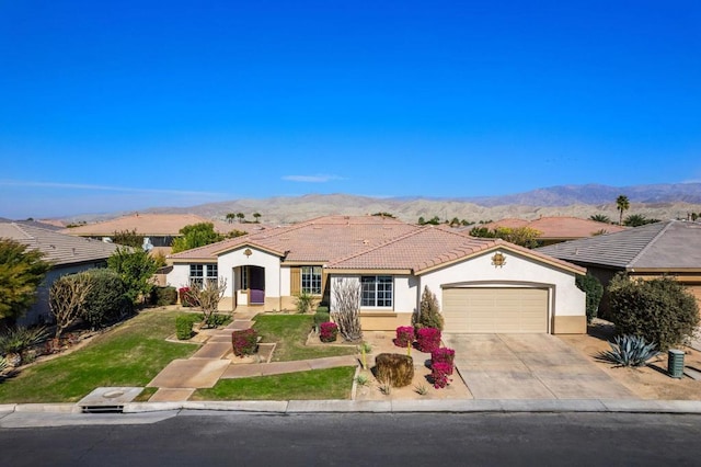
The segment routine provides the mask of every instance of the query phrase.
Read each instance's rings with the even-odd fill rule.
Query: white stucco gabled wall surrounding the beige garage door
[[[574,273],[509,250],[499,252],[506,258],[506,263],[501,267],[492,265],[492,257],[496,251],[491,251],[422,275],[421,288],[427,285],[440,299],[443,287],[449,284],[480,283],[480,286],[498,287],[543,284],[551,289],[551,332],[586,332],[585,294],[576,287]]]

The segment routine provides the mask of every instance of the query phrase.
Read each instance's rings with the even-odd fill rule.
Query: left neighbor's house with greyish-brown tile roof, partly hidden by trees
[[[48,291],[58,277],[93,267],[105,267],[107,258],[118,246],[100,240],[76,238],[22,223],[0,223],[0,238],[9,238],[28,250],[39,250],[44,260],[53,264],[44,283],[37,289],[37,299],[18,322],[35,324],[49,320]]]

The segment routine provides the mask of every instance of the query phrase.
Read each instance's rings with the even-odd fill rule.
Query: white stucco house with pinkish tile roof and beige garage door
[[[394,330],[424,286],[447,332],[586,332],[584,269],[498,239],[376,216],[329,216],[169,257],[168,283],[225,278],[220,309],[291,309],[300,292],[334,310],[341,282],[361,287],[365,330]]]

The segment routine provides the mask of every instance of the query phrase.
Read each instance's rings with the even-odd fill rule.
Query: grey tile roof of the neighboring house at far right
[[[701,224],[650,224],[538,251],[575,263],[628,270],[701,270]]]

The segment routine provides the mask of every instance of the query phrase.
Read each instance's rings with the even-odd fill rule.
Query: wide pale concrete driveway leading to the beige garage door
[[[636,399],[550,334],[444,334],[475,399]]]

